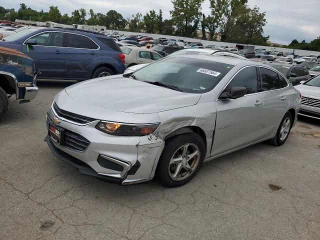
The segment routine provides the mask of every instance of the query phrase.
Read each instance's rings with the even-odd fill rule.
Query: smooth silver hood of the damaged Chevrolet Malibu
[[[65,92],[77,104],[131,113],[154,113],[194,105],[201,96],[122,75],[86,80],[65,88]]]

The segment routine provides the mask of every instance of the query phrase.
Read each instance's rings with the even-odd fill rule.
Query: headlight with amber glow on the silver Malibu
[[[145,136],[152,133],[159,123],[129,124],[119,122],[99,121],[95,128],[105,133],[117,136]]]

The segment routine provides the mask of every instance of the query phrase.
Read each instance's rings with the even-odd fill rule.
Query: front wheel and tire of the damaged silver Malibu
[[[184,152],[183,149],[185,150]],[[198,154],[195,153],[196,151]],[[194,154],[193,156],[191,155],[192,153]],[[191,180],[199,171],[204,156],[205,144],[198,134],[184,133],[169,138],[165,141],[165,146],[156,168],[156,179],[164,186],[181,186]],[[174,163],[170,163],[171,158],[172,161],[175,158]],[[176,161],[177,159],[180,160]]]

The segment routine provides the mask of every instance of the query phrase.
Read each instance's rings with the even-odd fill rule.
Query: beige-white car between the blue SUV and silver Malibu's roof
[[[148,48],[137,46],[120,46],[120,48],[125,54],[125,67],[141,63],[150,63],[162,58],[159,53]]]

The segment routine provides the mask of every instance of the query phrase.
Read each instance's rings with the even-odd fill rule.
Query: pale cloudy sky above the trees
[[[0,0],[5,8],[19,8],[21,0]],[[33,9],[48,10],[49,5],[57,5],[61,13],[69,15],[74,8],[92,8],[95,12],[106,13],[115,9],[124,18],[132,13],[146,13],[150,9],[163,11],[164,17],[169,17],[172,9],[170,0],[31,0],[24,1]],[[318,10],[320,0],[248,0],[250,6],[257,5],[260,11],[265,11],[267,24],[264,35],[270,35],[272,42],[288,44],[292,39],[310,41],[320,35]],[[202,4],[202,12],[209,13],[209,0]]]

